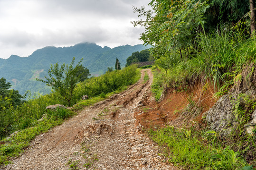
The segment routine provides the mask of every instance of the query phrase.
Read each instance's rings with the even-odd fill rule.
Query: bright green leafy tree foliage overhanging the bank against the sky
[[[146,17],[145,21],[132,22],[134,26],[144,26],[140,40],[152,45],[152,54],[159,58],[173,49],[185,50],[194,44],[196,32],[203,24],[204,13],[209,5],[198,0],[152,0],[149,4],[152,11],[134,8],[138,17]]]

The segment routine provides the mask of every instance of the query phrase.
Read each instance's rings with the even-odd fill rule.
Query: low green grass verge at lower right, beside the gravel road
[[[166,127],[149,134],[169,162],[186,170],[253,170],[240,153],[212,143],[205,131]]]

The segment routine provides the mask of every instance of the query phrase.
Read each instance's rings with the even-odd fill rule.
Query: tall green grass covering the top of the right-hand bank
[[[236,89],[256,85],[256,39],[245,39],[239,33],[224,29],[211,34],[199,33],[190,54],[181,60],[177,51],[171,51],[170,64],[163,80],[171,87],[191,85],[196,81],[211,81],[217,95],[226,93],[231,86]],[[166,60],[168,62],[169,60]],[[157,62],[156,62],[157,63]]]

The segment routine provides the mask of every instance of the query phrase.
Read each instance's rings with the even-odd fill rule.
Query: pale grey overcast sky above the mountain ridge
[[[151,0],[0,0],[0,58],[27,57],[45,46],[142,43],[133,6]]]

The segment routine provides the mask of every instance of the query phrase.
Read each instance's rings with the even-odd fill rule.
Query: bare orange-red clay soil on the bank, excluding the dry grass
[[[214,89],[209,87],[206,90],[202,89],[200,85],[195,85],[187,93],[168,89],[166,97],[161,102],[152,100],[152,93],[148,93],[141,102],[143,106],[134,112],[137,125],[141,124],[144,130],[167,126],[168,122],[177,119],[179,111],[189,104],[188,98],[190,96],[193,96],[194,101],[200,101],[199,107],[202,108],[202,112],[194,121],[201,124],[202,114],[215,103],[215,100],[212,98]]]

